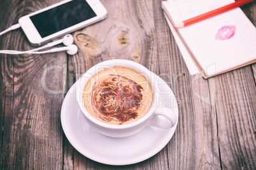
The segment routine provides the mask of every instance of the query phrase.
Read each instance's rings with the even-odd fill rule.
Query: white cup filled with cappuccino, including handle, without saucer
[[[77,84],[76,101],[83,117],[101,134],[123,138],[146,126],[176,127],[174,109],[157,105],[157,75],[139,63],[120,59],[98,63]]]

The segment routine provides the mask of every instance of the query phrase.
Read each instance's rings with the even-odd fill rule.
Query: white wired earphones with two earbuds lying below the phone
[[[73,44],[73,42],[74,42],[73,36],[71,36],[71,34],[67,34],[62,39],[50,42],[49,44],[46,44],[45,46],[42,46],[39,48],[31,49],[28,51],[0,50],[0,53],[10,54],[10,55],[22,55],[22,54],[44,54],[44,53],[55,53],[58,51],[66,51],[69,55],[75,55],[78,51],[78,47],[75,44]],[[56,46],[57,44],[61,44],[61,43],[63,43],[66,47],[52,48],[46,51],[39,51],[41,49]]]

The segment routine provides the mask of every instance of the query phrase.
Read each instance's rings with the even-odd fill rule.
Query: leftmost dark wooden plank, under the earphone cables
[[[7,3],[8,2],[8,3]],[[9,27],[20,16],[58,1],[1,1],[1,18]],[[1,25],[1,29],[6,29]],[[1,49],[26,50],[32,46],[22,30],[0,37]],[[62,91],[66,53],[0,55],[1,60],[1,167],[3,169],[62,169],[60,107],[64,93],[51,94],[41,84]],[[60,67],[44,72],[51,66]],[[46,74],[44,74],[46,73]],[[66,76],[66,75],[64,75]]]

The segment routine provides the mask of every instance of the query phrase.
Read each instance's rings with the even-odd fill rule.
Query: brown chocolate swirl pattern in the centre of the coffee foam
[[[96,85],[96,84],[95,84]],[[104,121],[116,120],[122,124],[138,117],[143,88],[121,75],[109,75],[92,90],[92,107]]]

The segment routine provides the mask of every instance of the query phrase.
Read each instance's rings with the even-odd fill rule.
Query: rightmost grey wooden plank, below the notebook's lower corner
[[[255,82],[250,66],[216,77],[222,167],[255,169]]]

